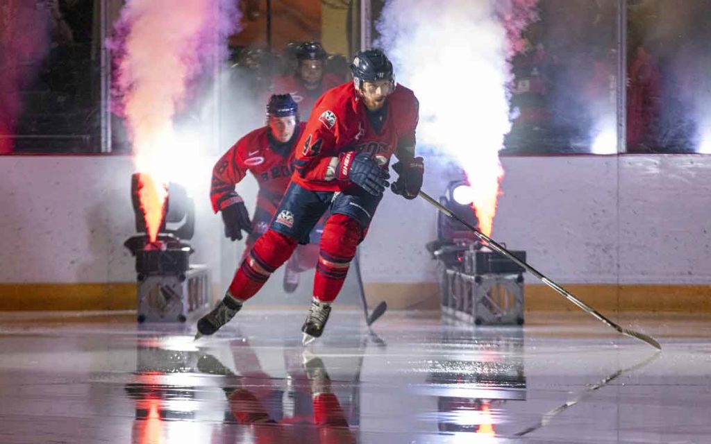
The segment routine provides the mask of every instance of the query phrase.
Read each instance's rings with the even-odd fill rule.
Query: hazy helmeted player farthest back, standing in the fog
[[[316,100],[326,90],[341,85],[343,80],[324,71],[326,51],[319,42],[301,43],[296,47],[296,72],[274,80],[272,90],[277,94],[292,94],[299,104],[301,117],[309,119]]]

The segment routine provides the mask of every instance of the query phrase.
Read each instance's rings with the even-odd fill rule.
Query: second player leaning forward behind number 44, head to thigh
[[[289,94],[272,95],[267,104],[267,125],[242,137],[215,163],[210,186],[213,211],[220,212],[225,237],[242,240],[247,233],[245,254],[269,227],[292,175],[294,146],[304,132],[299,108]],[[259,184],[257,206],[250,221],[235,185],[252,173]]]

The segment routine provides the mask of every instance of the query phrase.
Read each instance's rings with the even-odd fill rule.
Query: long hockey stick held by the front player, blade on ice
[[[570,300],[570,302],[574,303],[579,308],[582,308],[582,310],[584,310],[585,312],[594,316],[594,318],[597,318],[598,320],[602,321],[602,323],[609,325],[610,327],[614,328],[615,330],[622,333],[623,335],[627,335],[629,337],[634,337],[638,340],[642,340],[642,341],[646,342],[647,344],[651,345],[652,347],[656,348],[657,350],[662,350],[662,347],[661,347],[661,345],[659,345],[659,342],[657,342],[653,337],[651,337],[649,335],[645,335],[644,333],[630,330],[629,328],[620,327],[616,323],[614,323],[611,320],[609,320],[608,318],[604,317],[602,314],[598,313],[597,310],[594,310],[594,308],[592,308],[591,306],[584,303],[582,300],[579,300],[578,298],[573,296],[570,292],[565,290],[565,288],[562,288],[557,283],[555,283],[555,282],[551,281],[549,278],[545,277],[540,271],[534,269],[532,266],[530,266],[530,265],[526,264],[524,261],[521,261],[520,259],[518,259],[518,257],[511,254],[510,251],[508,251],[506,248],[502,247],[500,244],[498,244],[496,241],[494,241],[490,237],[486,236],[486,234],[483,234],[475,227],[472,227],[471,224],[462,220],[461,217],[455,215],[454,212],[447,210],[447,208],[444,207],[444,205],[437,202],[437,200],[432,199],[432,197],[427,195],[427,193],[420,191],[419,197],[422,197],[424,200],[427,200],[427,202],[434,205],[434,207],[436,207],[437,210],[441,211],[444,215],[451,217],[452,219],[456,220],[456,222],[459,222],[459,223],[463,224],[465,227],[469,228],[471,230],[471,232],[474,232],[474,234],[476,234],[476,237],[479,237],[479,239],[481,239],[483,242],[486,242],[486,244],[488,244],[488,247],[491,247],[491,249],[496,250],[499,253],[503,254],[504,256],[508,257],[508,259],[513,261],[516,265],[530,271],[530,274],[533,274],[533,276],[539,278],[543,283],[545,283],[545,285],[549,286],[553,290],[562,294],[562,296],[565,296],[565,298],[567,298],[567,300]]]

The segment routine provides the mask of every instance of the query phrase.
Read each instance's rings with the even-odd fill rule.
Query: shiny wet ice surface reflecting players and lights
[[[215,337],[134,313],[0,315],[0,442],[711,442],[705,315],[533,313],[524,327],[246,308]]]

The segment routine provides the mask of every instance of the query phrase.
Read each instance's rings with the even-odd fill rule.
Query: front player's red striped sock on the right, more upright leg
[[[314,298],[333,302],[343,287],[348,266],[355,256],[362,230],[356,220],[346,215],[328,217],[321,237],[319,264],[314,277]]]

